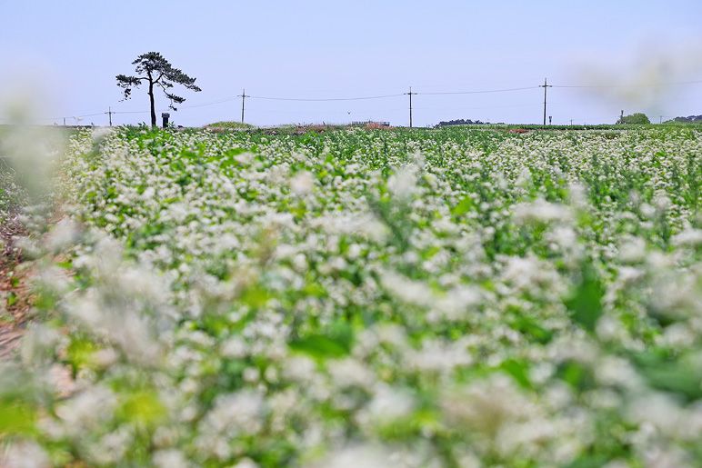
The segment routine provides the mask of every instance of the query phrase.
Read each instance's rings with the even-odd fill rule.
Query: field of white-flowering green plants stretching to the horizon
[[[131,128],[62,164],[10,466],[702,463],[701,130]]]

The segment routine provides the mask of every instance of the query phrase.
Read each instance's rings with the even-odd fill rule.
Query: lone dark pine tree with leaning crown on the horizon
[[[193,91],[202,91],[196,84],[196,78],[184,74],[181,70],[174,68],[163,55],[158,52],[149,52],[139,55],[132,65],[136,65],[135,72],[140,76],[117,75],[117,86],[125,90],[125,99],[132,95],[132,87],[138,88],[142,82],[148,82],[149,99],[151,100],[151,126],[156,126],[156,111],[154,105],[154,87],[163,89],[165,96],[170,99],[169,108],[177,111],[176,104],[185,102],[185,98],[169,93],[168,90],[174,85],[183,85]]]

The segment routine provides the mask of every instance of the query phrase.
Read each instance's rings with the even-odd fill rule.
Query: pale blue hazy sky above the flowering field
[[[107,124],[108,107],[125,113],[115,124],[145,122],[145,87],[120,102],[115,75],[157,51],[203,90],[174,88],[186,102],[171,120],[186,126],[239,121],[243,88],[250,124],[407,125],[410,86],[415,126],[538,124],[544,78],[554,124],[611,124],[621,110],[658,122],[702,115],[700,20],[699,0],[6,1],[0,118],[8,100],[39,89],[33,113],[45,124]],[[527,89],[498,91],[515,88]],[[378,95],[392,97],[261,98]],[[159,115],[167,105],[157,96]]]

